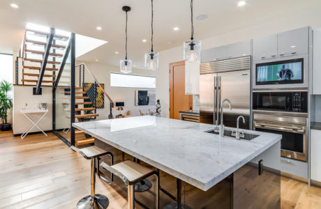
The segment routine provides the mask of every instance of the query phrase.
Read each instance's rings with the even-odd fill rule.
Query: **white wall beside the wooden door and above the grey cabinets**
[[[312,26],[313,28],[321,27],[321,12],[320,8],[301,10],[299,13],[288,15],[286,17],[271,20],[270,22],[263,22],[253,26],[248,26],[243,29],[224,33],[213,38],[202,40],[202,49],[209,49],[221,45],[231,44],[233,42],[240,42],[249,40],[260,36],[267,36],[269,34],[278,33],[281,31],[288,31],[290,29],[297,29],[304,26]],[[195,28],[197,32],[197,28]],[[197,34],[197,33],[195,33]],[[195,36],[197,39],[197,35]],[[182,43],[183,44],[183,43]],[[183,46],[167,49],[160,52],[159,68],[156,71],[156,98],[160,99],[162,106],[162,116],[169,117],[169,64],[183,59]]]

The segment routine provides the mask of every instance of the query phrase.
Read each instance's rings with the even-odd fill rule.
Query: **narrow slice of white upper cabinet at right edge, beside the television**
[[[313,31],[313,94],[321,94],[321,29]]]

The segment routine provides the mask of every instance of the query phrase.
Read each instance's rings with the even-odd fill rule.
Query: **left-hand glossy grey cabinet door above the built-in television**
[[[278,54],[278,36],[273,34],[253,39],[253,60],[275,58]]]

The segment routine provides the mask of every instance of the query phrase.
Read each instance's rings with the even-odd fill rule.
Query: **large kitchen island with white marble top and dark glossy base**
[[[246,178],[245,184],[249,179],[255,179],[256,184],[259,183],[256,181],[257,176],[262,175],[262,184],[260,183],[262,189],[264,189],[263,183],[267,180],[273,183],[267,185],[268,188],[262,192],[265,193],[269,189],[271,190],[269,193],[274,192],[276,199],[271,199],[271,207],[280,207],[281,135],[246,130],[248,134],[258,136],[251,141],[237,140],[207,132],[213,125],[154,116],[73,123],[73,127],[182,180],[200,193],[206,194],[211,191],[217,193],[220,191],[218,188],[221,188],[226,195],[219,199],[220,202],[226,203],[224,206],[228,206],[227,208],[237,208],[244,198],[251,199],[251,192],[256,193],[251,194],[252,196],[260,192],[258,185],[257,187],[252,185],[253,191],[249,187],[246,190],[246,185],[243,189],[239,188],[242,187],[242,183],[238,183],[237,180]],[[260,165],[262,162],[271,165],[270,169],[264,167],[262,172]],[[248,178],[248,175],[251,178]],[[264,176],[266,178],[263,178]],[[184,192],[188,196],[185,189]],[[211,204],[216,204],[217,196],[211,196],[216,199]],[[193,199],[193,196],[190,198]],[[188,199],[186,201],[188,204]],[[206,201],[209,204],[209,199]],[[210,207],[202,204],[202,208]]]

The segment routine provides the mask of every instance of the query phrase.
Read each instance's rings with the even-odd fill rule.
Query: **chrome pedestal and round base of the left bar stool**
[[[95,194],[96,159],[91,159],[91,195],[85,196],[77,203],[77,209],[105,209],[110,201],[107,196]]]

